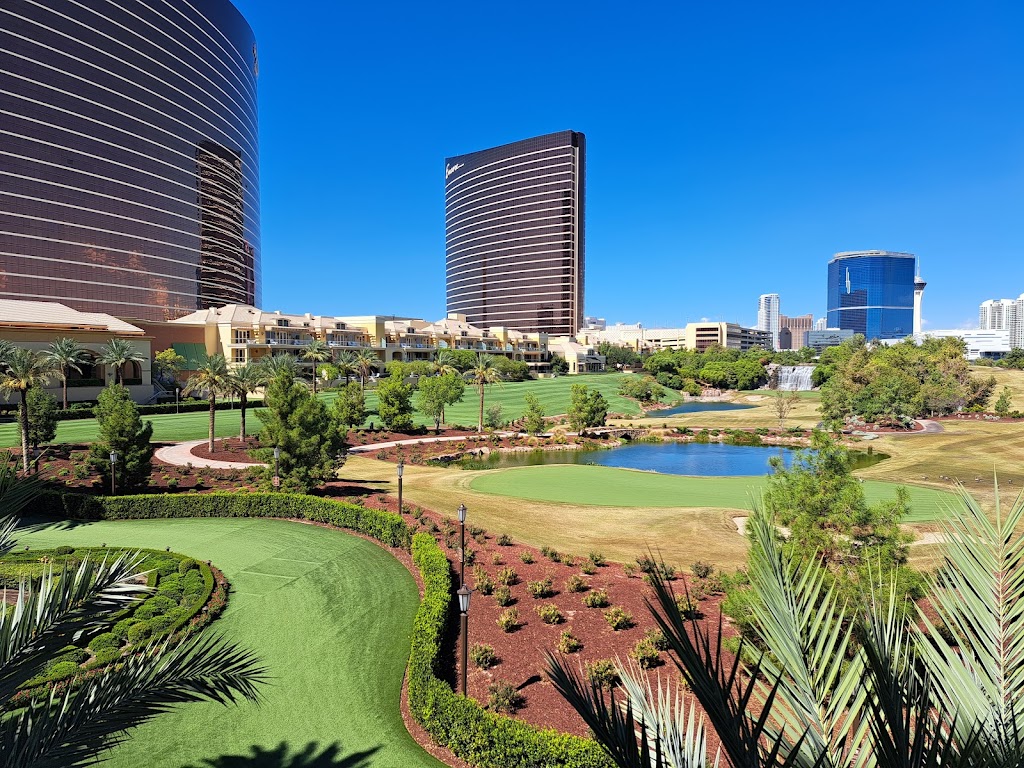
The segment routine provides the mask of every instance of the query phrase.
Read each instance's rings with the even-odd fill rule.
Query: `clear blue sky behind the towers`
[[[1024,292],[1024,4],[236,0],[260,50],[263,306],[444,312],[443,160],[587,134],[586,311],[824,313],[921,258],[926,326]]]

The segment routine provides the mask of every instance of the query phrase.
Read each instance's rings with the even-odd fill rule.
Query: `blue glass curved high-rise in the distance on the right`
[[[871,339],[913,333],[912,253],[852,251],[828,262],[828,328]]]

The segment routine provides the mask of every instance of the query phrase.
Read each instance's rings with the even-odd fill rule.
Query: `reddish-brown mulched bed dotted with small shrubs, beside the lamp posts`
[[[364,503],[376,509],[397,511],[397,500],[382,494],[372,496]],[[404,515],[406,519],[416,529],[434,532],[452,562],[456,573],[455,582],[458,583],[458,522],[422,508],[414,507],[413,513]],[[474,565],[466,566],[467,585],[474,588],[469,613],[469,646],[470,648],[475,644],[493,646],[498,662],[490,669],[482,670],[470,658],[469,695],[486,703],[489,696],[488,688],[493,683],[510,683],[525,697],[523,707],[515,717],[541,727],[587,735],[588,730],[583,719],[548,681],[546,654],[549,651],[557,653],[562,632],[569,631],[583,646],[578,652],[562,656],[570,665],[583,670],[587,663],[603,659],[617,657],[626,663],[637,642],[649,630],[655,629],[654,620],[645,605],[646,598],[653,598],[652,590],[642,580],[639,569],[630,575],[623,564],[605,563],[594,567],[592,574],[586,574],[582,568],[587,567],[586,563],[589,562],[587,555],[590,553],[577,552],[572,553],[571,557],[564,556],[564,553],[549,553],[546,556],[537,549],[518,542],[501,546],[498,544],[501,531],[481,531],[473,537],[470,532],[474,530],[471,523],[472,512],[466,526],[466,549],[467,552],[472,552],[474,561]],[[436,530],[432,530],[435,527]],[[532,562],[523,562],[524,555]],[[572,564],[568,564],[567,561]],[[684,582],[692,591],[699,581],[689,572],[683,574],[681,566],[682,564],[677,564],[678,575],[673,583],[676,594],[680,596],[683,595]],[[686,567],[688,568],[688,565]],[[503,568],[512,568],[516,574],[514,584],[509,587],[514,602],[508,606],[499,605],[495,594],[481,594],[478,584],[485,574],[494,583],[494,588],[497,588],[500,586],[499,572]],[[585,592],[568,591],[566,583],[573,575],[584,580],[587,585]],[[550,597],[532,597],[529,592],[530,583],[546,579],[551,580],[554,594]],[[583,602],[584,597],[599,590],[607,593],[607,607],[587,607]],[[720,595],[712,595],[698,603],[703,614],[699,620],[701,625],[717,630],[721,600]],[[558,624],[546,624],[537,611],[538,607],[545,605],[556,606],[563,620]],[[613,606],[629,613],[633,626],[618,631],[611,629],[605,618],[605,611]],[[507,633],[499,627],[498,618],[508,608],[518,610],[519,626],[513,632]],[[736,634],[726,622],[726,636]],[[461,642],[457,640],[452,638],[452,642],[457,646],[455,670],[460,669],[459,653],[462,647]],[[453,672],[451,680],[453,684],[457,681],[457,674]],[[655,687],[658,676],[664,676],[674,685],[679,679],[678,671],[666,652],[660,653],[658,666],[646,674]]]

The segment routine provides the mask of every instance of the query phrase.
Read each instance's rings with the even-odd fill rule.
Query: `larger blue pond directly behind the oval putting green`
[[[464,459],[465,469],[499,469],[540,464],[592,464],[640,469],[672,475],[735,477],[764,475],[773,456],[793,466],[796,451],[780,445],[729,445],[721,442],[634,442],[594,451],[527,451],[493,453],[483,459]],[[862,469],[889,458],[885,454],[851,452],[853,468]]]

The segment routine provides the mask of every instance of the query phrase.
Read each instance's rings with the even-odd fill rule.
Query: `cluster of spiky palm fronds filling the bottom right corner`
[[[963,488],[946,523],[945,565],[924,610],[907,615],[897,581],[870,585],[862,615],[826,566],[799,560],[755,511],[749,575],[756,657],[723,653],[717,630],[684,617],[655,569],[649,603],[685,686],[734,768],[1018,766],[1024,755],[1024,495],[994,523]],[[880,573],[874,574],[881,580]],[[858,645],[854,638],[859,639]],[[703,722],[620,669],[611,702],[549,656],[555,687],[621,768],[705,766]],[[623,706],[621,706],[621,703]],[[687,756],[685,760],[679,756]]]

